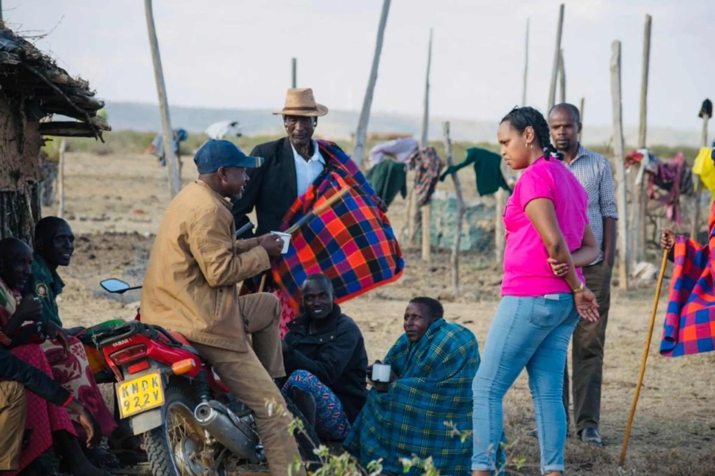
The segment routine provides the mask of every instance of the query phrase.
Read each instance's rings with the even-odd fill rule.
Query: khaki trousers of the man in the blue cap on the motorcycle
[[[274,401],[285,408],[285,400],[272,377],[285,377],[280,341],[280,301],[272,294],[242,296],[241,312],[246,319],[252,347],[235,352],[192,342],[201,357],[211,363],[216,373],[237,399],[253,410],[256,426],[265,447],[268,467],[273,476],[287,476],[295,457],[300,457],[295,438],[288,433],[290,413],[269,412],[266,403]],[[269,415],[272,413],[272,415]],[[301,468],[298,475],[305,475]]]

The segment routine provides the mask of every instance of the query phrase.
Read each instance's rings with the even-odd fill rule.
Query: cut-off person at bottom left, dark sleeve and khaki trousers
[[[102,433],[99,431],[97,420],[87,407],[72,397],[49,375],[19,360],[2,347],[0,347],[0,380],[2,380],[0,382],[0,472],[21,469],[18,467],[18,457],[28,410],[25,389],[51,404],[77,412],[79,422],[87,432],[87,445],[94,446],[99,443]],[[31,410],[36,411],[36,409]],[[29,467],[25,472],[31,472]]]

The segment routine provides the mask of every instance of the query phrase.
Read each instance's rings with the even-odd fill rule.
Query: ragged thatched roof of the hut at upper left
[[[26,104],[28,120],[61,114],[79,122],[42,122],[40,133],[51,136],[96,137],[112,130],[97,111],[104,101],[94,97],[89,83],[71,77],[33,44],[0,22],[0,91]]]

